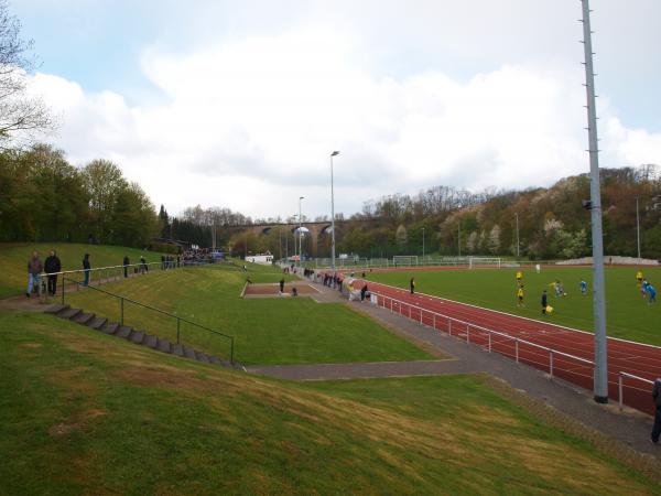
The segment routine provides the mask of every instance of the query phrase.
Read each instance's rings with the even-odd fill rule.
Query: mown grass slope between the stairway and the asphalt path
[[[251,268],[252,269],[252,268]],[[277,282],[281,274],[253,268],[254,282]],[[321,364],[432,358],[347,305],[319,304],[307,298],[242,300],[246,273],[192,268],[150,273],[104,285],[142,303],[236,336],[236,358],[243,364]],[[67,302],[119,320],[119,303],[94,290],[72,293]],[[124,303],[124,322],[162,337],[176,338],[176,322]],[[181,325],[183,343],[227,356],[228,342]]]

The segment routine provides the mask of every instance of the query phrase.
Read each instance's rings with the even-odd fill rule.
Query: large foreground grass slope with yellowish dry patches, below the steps
[[[0,494],[661,494],[481,376],[296,385],[0,312]]]

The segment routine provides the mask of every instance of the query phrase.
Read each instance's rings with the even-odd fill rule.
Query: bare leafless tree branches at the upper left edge
[[[28,94],[34,63],[26,53],[33,42],[21,39],[21,22],[0,0],[0,148],[12,138],[30,139],[54,127],[41,98]]]

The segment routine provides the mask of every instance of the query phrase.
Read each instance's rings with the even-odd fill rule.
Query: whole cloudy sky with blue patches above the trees
[[[600,165],[661,164],[661,1],[593,0]],[[156,207],[359,212],[589,170],[577,0],[12,0],[44,137]]]

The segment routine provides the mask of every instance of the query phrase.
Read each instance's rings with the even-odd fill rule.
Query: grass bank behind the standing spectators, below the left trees
[[[24,292],[28,285],[28,260],[32,257],[32,252],[39,251],[42,261],[44,261],[53,249],[62,260],[62,270],[83,269],[83,256],[85,254],[89,254],[93,268],[119,266],[122,263],[124,255],[129,256],[131,263],[138,263],[140,256],[143,256],[148,262],[161,259],[160,254],[121,246],[75,242],[0,242],[0,273],[2,274],[0,298]]]

